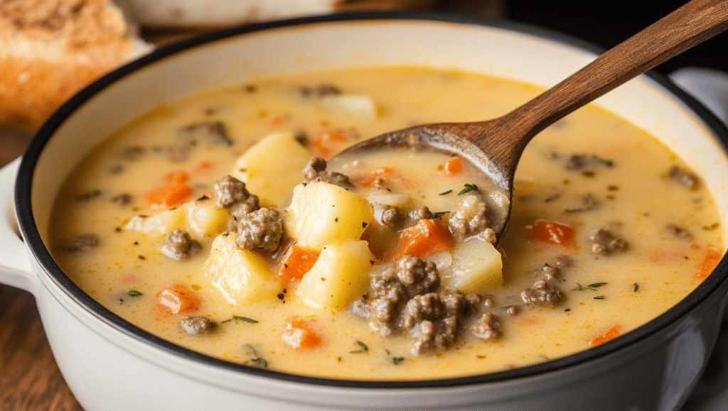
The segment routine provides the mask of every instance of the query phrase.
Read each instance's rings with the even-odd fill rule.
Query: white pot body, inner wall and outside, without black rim
[[[728,290],[726,258],[667,313],[596,348],[507,372],[390,383],[286,375],[180,348],[100,306],[44,246],[53,199],[84,153],[141,113],[199,89],[372,65],[459,68],[549,87],[594,57],[579,41],[522,25],[411,13],[248,25],[159,49],[73,97],[23,160],[0,172],[0,210],[15,205],[25,239],[15,234],[14,214],[0,220],[0,282],[33,293],[60,370],[87,411],[676,410],[713,350]],[[703,175],[728,222],[728,132],[708,111],[654,73],[597,104]]]

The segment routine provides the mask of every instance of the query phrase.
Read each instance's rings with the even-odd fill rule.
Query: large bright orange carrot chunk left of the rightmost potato
[[[448,231],[433,220],[422,219],[400,232],[397,245],[387,260],[398,260],[405,255],[424,258],[438,252],[450,251],[453,240]]]

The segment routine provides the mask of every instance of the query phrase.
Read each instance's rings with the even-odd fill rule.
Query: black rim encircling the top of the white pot
[[[232,36],[240,36],[245,33],[253,33],[258,31],[264,31],[269,28],[280,28],[290,25],[308,25],[315,23],[327,23],[327,22],[341,22],[349,20],[431,20],[442,23],[463,23],[467,25],[485,26],[492,28],[500,28],[507,31],[514,31],[517,33],[525,33],[533,36],[539,36],[545,39],[550,39],[559,44],[563,44],[567,47],[574,47],[577,49],[583,49],[587,52],[594,52],[600,54],[604,50],[589,44],[581,39],[575,39],[574,37],[567,36],[563,33],[550,31],[545,28],[534,27],[531,25],[516,23],[508,20],[488,20],[481,17],[472,17],[466,15],[451,15],[451,14],[440,14],[436,12],[348,12],[336,15],[322,15],[312,17],[300,17],[289,20],[279,20],[266,23],[254,23],[250,25],[242,25],[236,28],[229,28],[214,33],[207,33],[202,36],[197,36],[192,39],[186,39],[179,41],[174,44],[169,44],[165,47],[151,52],[149,55],[145,55],[138,60],[135,60],[121,68],[106,74],[106,76],[94,81],[74,97],[71,97],[66,103],[58,108],[55,113],[44,123],[44,125],[36,133],[36,136],[28,146],[25,155],[20,164],[15,188],[15,204],[17,205],[17,218],[20,225],[21,231],[25,242],[30,247],[35,258],[39,261],[41,266],[50,276],[55,284],[58,284],[72,299],[79,303],[84,309],[89,311],[92,315],[101,319],[106,324],[111,325],[127,335],[132,336],[138,340],[151,344],[162,350],[168,351],[172,354],[183,356],[188,359],[193,359],[197,362],[204,364],[210,364],[215,367],[221,367],[226,370],[233,370],[236,372],[244,372],[249,375],[259,375],[266,378],[274,378],[277,380],[288,380],[296,383],[304,383],[315,386],[331,386],[331,387],[352,387],[352,388],[386,388],[386,389],[404,389],[404,388],[438,388],[438,387],[451,387],[451,386],[467,386],[473,384],[482,383],[495,383],[505,380],[513,380],[516,378],[525,378],[533,375],[539,375],[545,372],[553,372],[555,370],[561,370],[566,367],[573,367],[578,364],[589,362],[600,357],[612,354],[615,351],[619,351],[622,348],[630,346],[633,343],[638,342],[644,338],[654,335],[670,324],[678,321],[683,316],[686,316],[693,309],[701,306],[701,303],[715,302],[716,295],[723,295],[725,289],[728,287],[728,282],[725,281],[728,274],[728,258],[724,256],[719,262],[719,265],[713,271],[713,274],[708,276],[702,284],[687,295],[686,298],[681,300],[676,306],[673,306],[664,314],[657,316],[656,319],[648,322],[647,324],[638,327],[632,332],[628,332],[625,335],[620,336],[614,340],[608,341],[600,346],[581,351],[577,354],[565,356],[561,359],[555,359],[550,362],[544,362],[541,364],[535,364],[528,367],[517,368],[514,370],[507,370],[502,372],[493,372],[485,375],[473,375],[462,378],[446,378],[440,380],[414,380],[414,381],[368,381],[368,380],[334,380],[328,378],[314,378],[302,375],[286,374],[285,372],[277,372],[272,370],[258,369],[256,367],[247,367],[242,364],[236,364],[227,362],[222,359],[216,359],[205,354],[199,354],[196,351],[191,351],[187,348],[182,348],[173,343],[158,338],[151,333],[136,327],[129,322],[125,321],[121,317],[104,308],[89,295],[83,292],[71,279],[66,276],[61,270],[58,264],[50,255],[50,252],[45,247],[45,244],[41,240],[41,236],[36,227],[32,208],[31,208],[31,182],[33,180],[33,173],[35,170],[36,161],[38,161],[44,146],[53,136],[55,129],[57,129],[68,116],[71,116],[76,108],[79,108],[85,101],[89,100],[90,97],[94,96],[98,92],[105,89],[108,85],[114,83],[117,79],[121,79],[124,76],[130,75],[134,71],[142,68],[150,63],[154,63],[157,60],[173,55],[177,52],[181,52],[186,49],[207,44],[212,41],[218,41],[226,39]],[[682,92],[681,89],[672,84],[664,76],[660,76],[658,73],[649,72],[646,74],[655,83],[659,84],[667,92],[675,95],[681,100],[687,107],[697,114],[705,124],[711,129],[713,135],[716,136],[717,142],[723,148],[723,151],[728,151],[728,130],[724,125],[713,116],[707,109],[697,103],[692,97]]]

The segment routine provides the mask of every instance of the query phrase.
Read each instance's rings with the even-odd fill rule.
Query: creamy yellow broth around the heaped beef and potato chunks
[[[322,83],[371,97],[377,105],[375,118],[332,113],[298,97],[298,87]],[[413,124],[500,116],[539,91],[486,76],[402,68],[308,73],[194,95],[132,121],[76,167],[55,204],[52,253],[82,290],[132,324],[231,362],[260,357],[269,369],[282,372],[348,380],[449,378],[573,354],[590,348],[609,330],[624,334],[674,306],[700,283],[696,273],[705,250],[724,250],[721,229],[716,229],[721,221],[706,188],[699,184],[690,189],[668,177],[673,165],[686,168],[681,160],[640,129],[594,106],[546,129],[523,153],[510,225],[499,244],[503,284],[479,292],[493,296],[496,303],[491,312],[502,320],[498,340],[478,340],[466,333],[448,351],[413,356],[408,336],[381,337],[367,320],[349,310],[306,307],[295,294],[295,284],[283,300],[232,305],[203,273],[213,236],[195,236],[202,252],[178,261],[160,252],[164,235],[124,228],[135,215],[158,212],[144,208],[139,199],[159,186],[167,173],[184,169],[193,175],[191,199],[210,193],[215,181],[234,168],[237,157],[269,132],[305,130],[313,135],[320,129],[344,127],[367,138]],[[232,146],[194,148],[182,163],[151,154],[135,161],[119,157],[130,145],[169,145],[180,127],[210,120],[226,124]],[[567,169],[566,161],[574,153],[609,159],[611,166],[604,161],[588,169]],[[411,167],[405,172],[417,181],[418,198],[432,211],[451,207],[440,193],[453,190],[449,196],[454,198],[463,183],[479,178],[468,172],[461,180],[448,180],[438,169],[441,156],[425,160],[413,153],[407,156],[397,161]],[[286,161],[285,153],[277,161]],[[132,204],[114,204],[111,199],[119,193],[130,193]],[[596,204],[585,206],[585,193]],[[266,205],[266,199],[261,202]],[[539,219],[569,224],[576,246],[531,239],[529,227]],[[686,228],[692,239],[671,234],[665,228],[670,224]],[[619,234],[628,242],[627,250],[607,256],[591,252],[588,236],[597,228]],[[100,238],[99,247],[63,251],[69,239],[89,233]],[[555,308],[523,305],[519,295],[534,284],[534,270],[559,255],[572,261],[558,282],[566,300]],[[195,315],[218,322],[213,333],[188,335],[178,316],[165,316],[154,308],[157,292],[175,283],[186,284],[201,301]],[[587,287],[596,283],[606,284]],[[132,297],[128,290],[142,295]],[[508,314],[507,308],[514,305],[517,312]],[[320,346],[293,350],[282,343],[283,324],[293,317],[314,320]],[[228,319],[232,320],[225,322]]]

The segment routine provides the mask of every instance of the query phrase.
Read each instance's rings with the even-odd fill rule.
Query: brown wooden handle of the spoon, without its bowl
[[[728,0],[692,0],[609,49],[534,100],[496,119],[496,124],[491,121],[491,129],[499,130],[497,140],[500,141],[483,135],[478,145],[486,153],[494,154],[491,161],[514,170],[526,143],[542,129],[727,28]],[[500,128],[497,124],[507,125]],[[510,145],[510,148],[502,151],[488,145]]]

